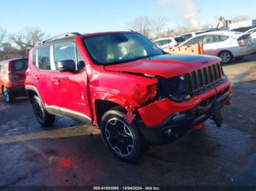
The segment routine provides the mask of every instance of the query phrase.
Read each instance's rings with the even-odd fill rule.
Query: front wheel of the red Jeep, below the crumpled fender
[[[148,144],[134,123],[128,124],[125,112],[111,109],[102,117],[100,123],[102,139],[106,146],[119,160],[135,163],[148,150]]]

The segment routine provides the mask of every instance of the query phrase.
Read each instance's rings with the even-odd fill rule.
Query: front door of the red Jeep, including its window
[[[53,59],[57,72],[52,75],[52,87],[61,115],[75,120],[91,120],[87,93],[87,74],[75,42],[61,42],[53,45]],[[61,72],[59,61],[72,60],[76,71]]]

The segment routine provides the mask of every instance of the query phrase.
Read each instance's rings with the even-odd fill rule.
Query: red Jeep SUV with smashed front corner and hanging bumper
[[[54,36],[29,54],[26,90],[42,126],[55,115],[99,126],[113,155],[133,162],[211,117],[232,90],[219,58],[170,55],[133,31]]]

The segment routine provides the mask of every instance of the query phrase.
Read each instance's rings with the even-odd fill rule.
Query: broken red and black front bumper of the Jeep
[[[142,119],[138,121],[138,127],[148,143],[169,144],[210,117],[221,125],[220,109],[230,101],[232,95],[230,82],[227,81],[190,101],[174,103],[163,99],[154,102],[138,109]]]

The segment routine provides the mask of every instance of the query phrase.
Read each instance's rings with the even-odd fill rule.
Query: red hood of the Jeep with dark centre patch
[[[169,78],[218,62],[219,58],[208,55],[157,55],[129,63],[105,66],[105,70]]]

